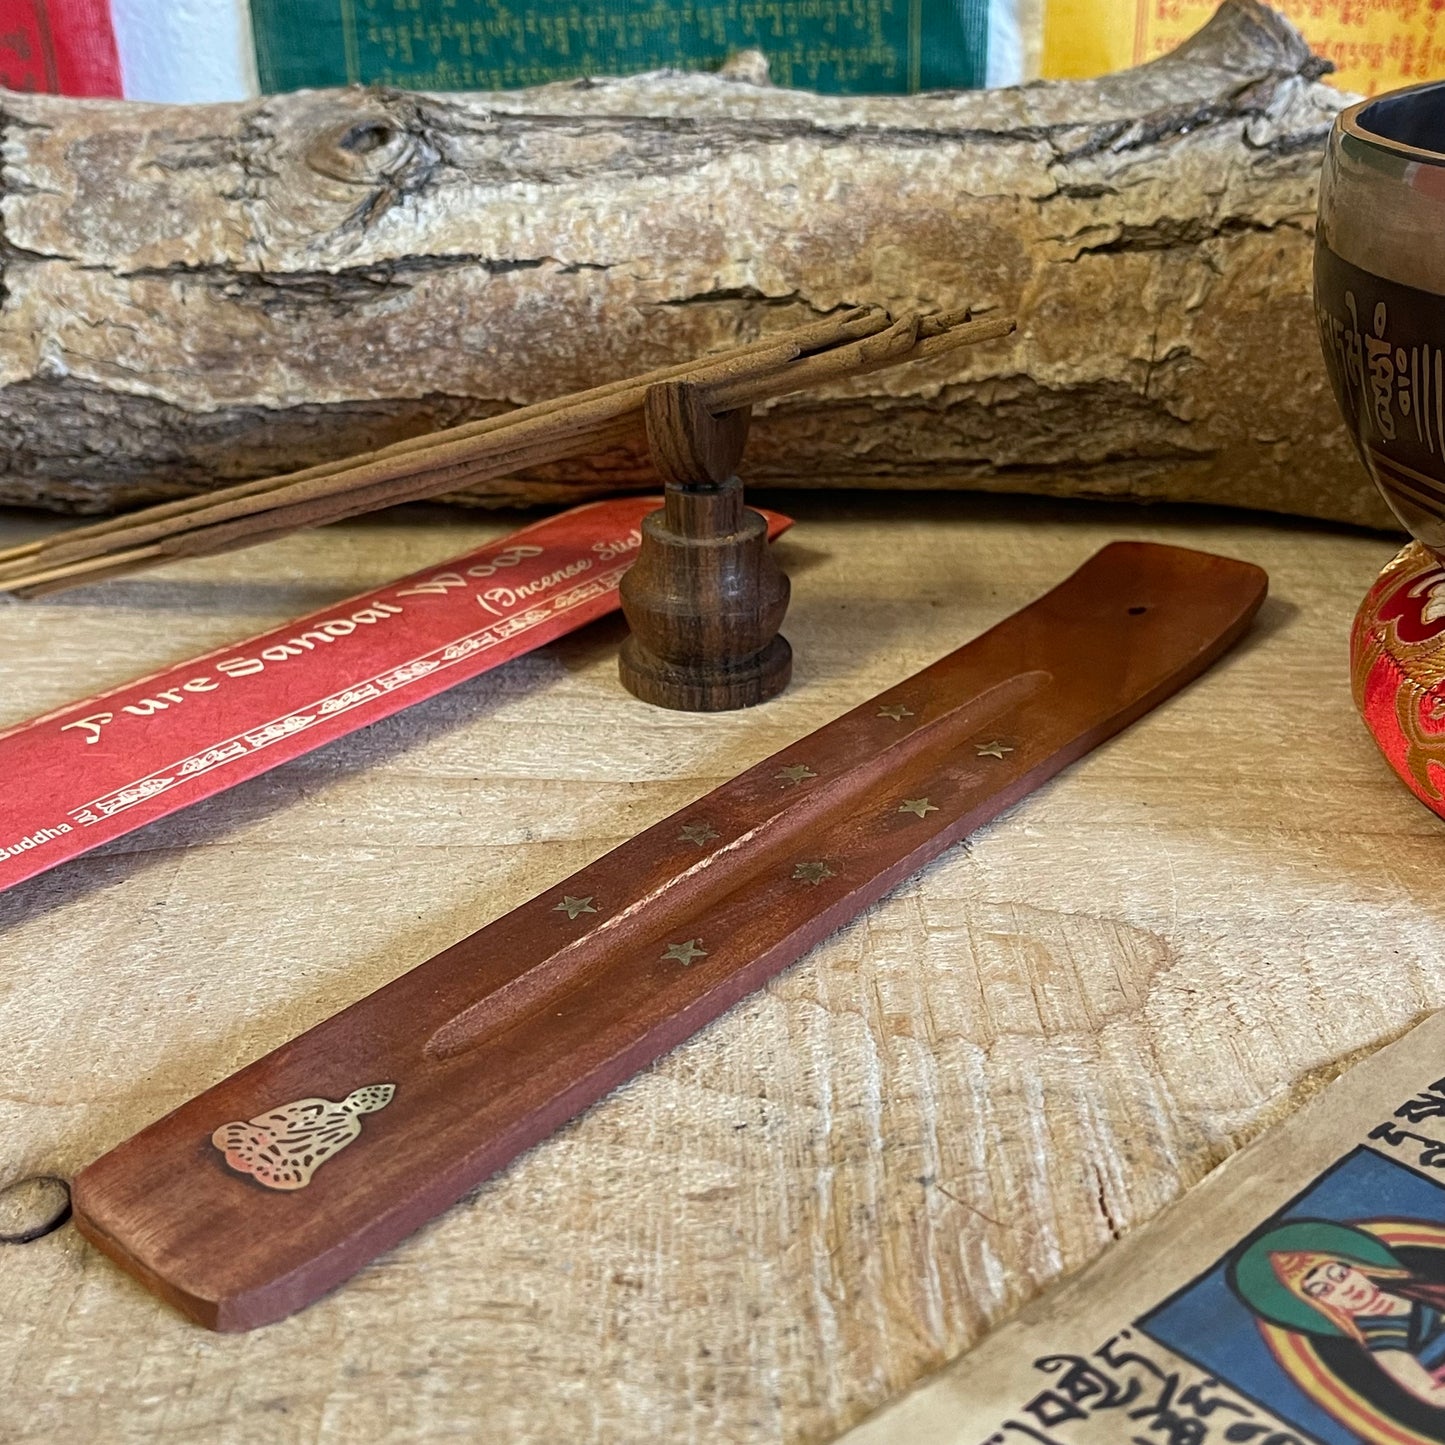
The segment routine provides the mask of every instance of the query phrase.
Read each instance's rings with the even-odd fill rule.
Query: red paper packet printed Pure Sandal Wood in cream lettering
[[[574,507],[0,733],[0,892],[614,611],[659,506]]]

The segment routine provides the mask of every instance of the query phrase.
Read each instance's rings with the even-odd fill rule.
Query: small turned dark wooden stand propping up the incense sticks
[[[788,686],[793,655],[777,636],[788,578],[736,475],[749,412],[712,416],[686,381],[650,387],[644,412],[666,496],[621,582],[623,685],[683,712],[753,707]]]

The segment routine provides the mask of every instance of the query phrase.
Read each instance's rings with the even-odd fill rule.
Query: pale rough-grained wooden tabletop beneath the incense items
[[[215,1337],[69,1228],[0,1248],[0,1439],[827,1439],[1445,1003],[1445,831],[1348,694],[1392,540],[793,510],[775,702],[649,708],[601,623],[0,894],[0,1182],[75,1172],[1111,538],[1273,592],[1209,676],[303,1315]],[[0,604],[0,727],[512,525],[418,510]]]

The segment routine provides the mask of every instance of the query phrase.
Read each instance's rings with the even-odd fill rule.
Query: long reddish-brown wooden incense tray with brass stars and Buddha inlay
[[[113,1149],[81,1233],[212,1329],[301,1309],[1196,676],[1264,588],[1105,548]]]

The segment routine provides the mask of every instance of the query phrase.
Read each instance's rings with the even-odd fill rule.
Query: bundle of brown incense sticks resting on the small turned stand
[[[344,461],[168,501],[0,552],[0,591],[33,597],[185,556],[269,542],[402,501],[598,451],[639,425],[647,387],[695,383],[715,415],[1004,337],[1006,318],[858,306],[709,357],[468,422]]]

